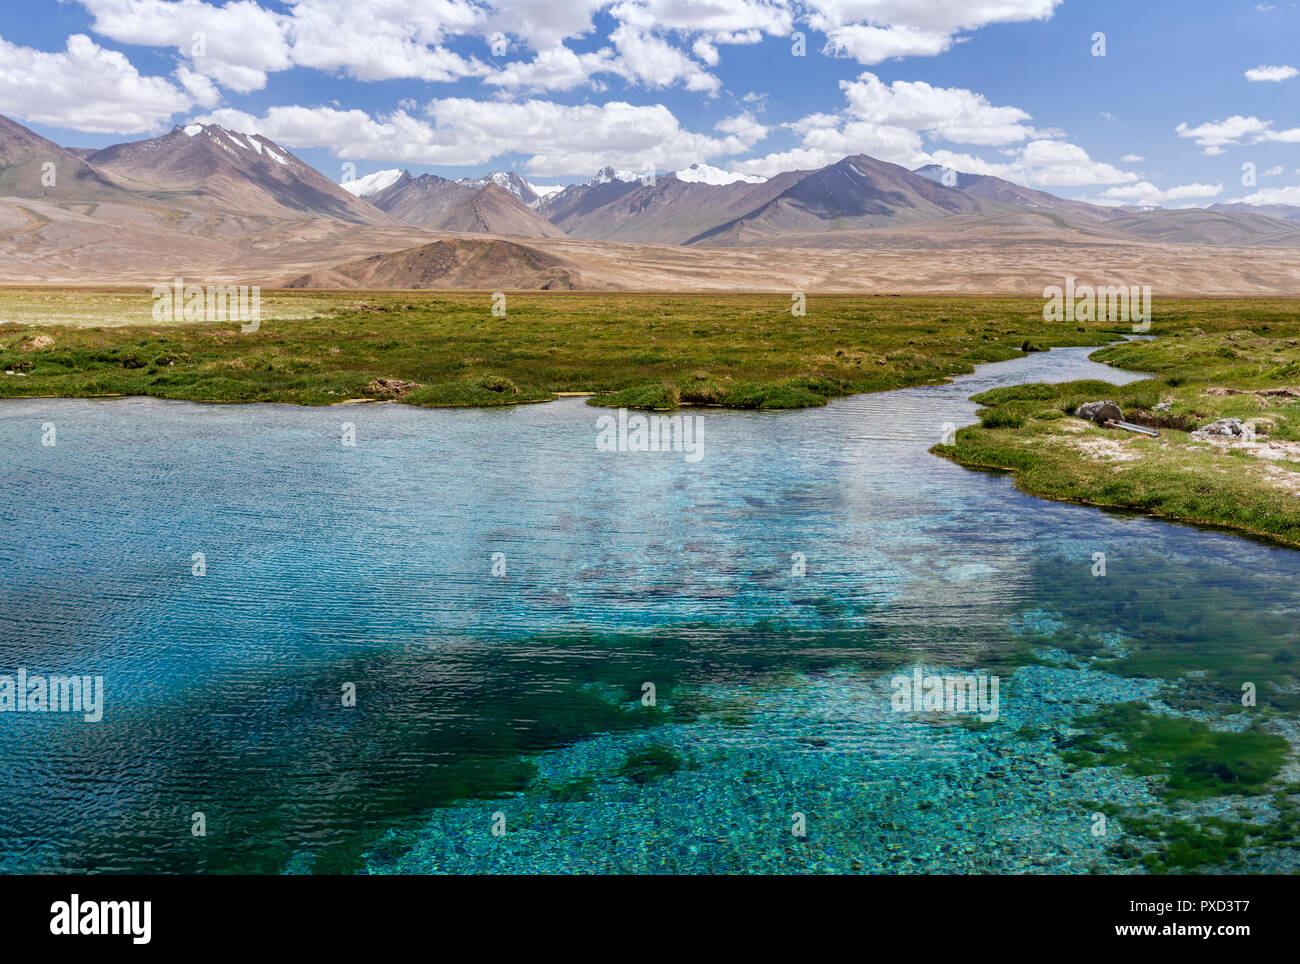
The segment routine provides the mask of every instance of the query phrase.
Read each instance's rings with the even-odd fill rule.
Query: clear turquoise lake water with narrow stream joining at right
[[[1089,815],[1150,782],[1061,735],[1225,634],[1294,651],[1300,555],[927,452],[975,392],[1135,377],[1086,356],[705,412],[698,463],[580,399],[5,401],[0,674],[107,704],[0,715],[0,869],[1114,869]],[[1079,656],[1147,644],[1186,666]],[[893,712],[918,664],[996,670],[1000,721]]]

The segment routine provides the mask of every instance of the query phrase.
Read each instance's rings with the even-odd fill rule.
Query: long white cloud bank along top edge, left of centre
[[[719,45],[785,35],[793,23],[781,0],[289,0],[283,12],[255,0],[224,6],[207,0],[81,3],[96,32],[172,48],[191,71],[240,94],[265,87],[269,73],[294,66],[359,81],[451,83],[481,77],[507,90],[599,87],[595,75],[612,73],[650,88],[681,83],[714,94],[722,84],[706,66],[720,61]],[[608,40],[616,56],[608,48],[573,52],[564,42],[592,34],[593,14],[601,9],[615,19]],[[488,42],[484,56],[450,47],[465,36]],[[508,48],[532,51],[533,58],[516,56],[498,66],[490,56],[498,36],[516,40],[507,40]],[[690,39],[685,48],[676,43]]]

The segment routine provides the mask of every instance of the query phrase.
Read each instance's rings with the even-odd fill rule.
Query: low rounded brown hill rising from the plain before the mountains
[[[290,288],[573,288],[577,265],[524,244],[454,238],[347,261],[294,278]]]

